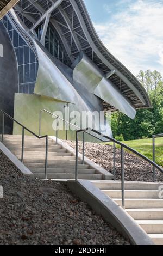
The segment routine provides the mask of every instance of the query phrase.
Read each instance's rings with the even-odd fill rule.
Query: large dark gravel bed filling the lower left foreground
[[[0,245],[129,245],[66,185],[24,176],[0,151]]]

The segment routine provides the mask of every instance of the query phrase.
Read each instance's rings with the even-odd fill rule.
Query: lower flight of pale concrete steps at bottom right
[[[121,181],[92,182],[118,205],[122,205]],[[163,245],[163,199],[159,198],[160,186],[163,184],[125,182],[126,212],[146,231],[156,245]]]

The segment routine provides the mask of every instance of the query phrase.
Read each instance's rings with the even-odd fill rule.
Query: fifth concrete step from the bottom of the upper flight
[[[21,158],[21,151],[12,151],[18,158]],[[32,158],[37,158],[37,157],[45,157],[45,151],[24,151],[24,159],[28,159],[30,157]],[[74,156],[72,156],[71,153],[68,152],[48,152],[48,156],[65,156],[65,157],[73,157],[73,159],[75,159]]]

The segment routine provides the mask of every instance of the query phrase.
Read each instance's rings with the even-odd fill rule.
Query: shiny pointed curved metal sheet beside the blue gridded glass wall
[[[51,59],[48,58],[39,45],[36,42],[34,44],[39,61],[34,93],[74,104],[76,102],[76,93],[72,84],[70,84]]]

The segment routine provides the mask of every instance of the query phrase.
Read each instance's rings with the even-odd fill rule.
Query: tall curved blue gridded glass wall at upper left
[[[21,35],[12,27],[7,17],[3,18],[3,23],[8,30],[17,56],[19,74],[18,93],[32,94],[34,92],[38,70],[38,62],[35,54]]]

